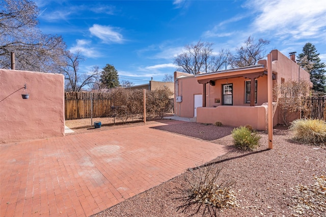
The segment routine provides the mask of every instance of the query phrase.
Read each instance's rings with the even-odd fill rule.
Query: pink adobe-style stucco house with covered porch
[[[266,130],[267,72],[272,73],[273,87],[287,80],[310,81],[309,73],[295,63],[294,53],[290,59],[279,50],[272,50],[270,54],[270,68],[267,68],[267,60],[259,60],[254,66],[210,73],[174,72],[175,115],[194,118],[199,123],[220,121],[235,127],[250,124],[255,129]],[[274,126],[282,123],[276,101],[274,95]]]

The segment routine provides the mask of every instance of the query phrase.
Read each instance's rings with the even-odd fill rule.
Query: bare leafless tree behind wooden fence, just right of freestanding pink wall
[[[82,91],[83,88],[89,87],[93,89],[99,88],[98,76],[100,74],[98,66],[94,66],[90,72],[81,73],[79,70],[79,61],[84,58],[77,52],[76,55],[66,51],[66,64],[61,66],[60,71],[65,75],[66,91]]]

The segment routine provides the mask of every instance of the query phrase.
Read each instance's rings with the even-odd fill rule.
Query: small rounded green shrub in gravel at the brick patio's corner
[[[242,150],[254,150],[259,146],[260,135],[247,127],[240,126],[232,130],[234,146]]]

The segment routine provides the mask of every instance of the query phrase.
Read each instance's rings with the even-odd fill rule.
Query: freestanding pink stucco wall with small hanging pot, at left
[[[64,135],[62,74],[0,69],[0,90],[0,142]]]

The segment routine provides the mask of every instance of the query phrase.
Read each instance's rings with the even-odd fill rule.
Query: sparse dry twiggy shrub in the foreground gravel
[[[185,182],[179,188],[183,204],[177,211],[194,215],[202,210],[203,216],[216,216],[221,208],[237,207],[236,196],[232,190],[234,181],[218,183],[221,169],[215,166],[197,167],[183,174]]]

